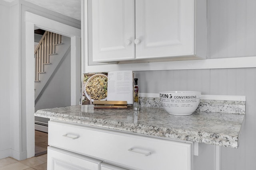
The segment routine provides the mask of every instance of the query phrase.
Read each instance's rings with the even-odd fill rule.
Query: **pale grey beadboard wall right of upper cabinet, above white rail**
[[[207,2],[208,59],[256,56],[256,1]]]

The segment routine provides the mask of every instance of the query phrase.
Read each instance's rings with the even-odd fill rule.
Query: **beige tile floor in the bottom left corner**
[[[10,157],[0,159],[0,170],[47,170],[47,154],[21,161]]]

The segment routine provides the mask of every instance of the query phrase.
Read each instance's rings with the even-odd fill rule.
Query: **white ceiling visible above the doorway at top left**
[[[14,0],[5,0],[12,2]],[[81,21],[81,0],[26,0],[43,8]]]

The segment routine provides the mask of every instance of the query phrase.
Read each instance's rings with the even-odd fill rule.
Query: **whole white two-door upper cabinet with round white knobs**
[[[92,0],[91,22],[94,62],[206,59],[206,0]]]

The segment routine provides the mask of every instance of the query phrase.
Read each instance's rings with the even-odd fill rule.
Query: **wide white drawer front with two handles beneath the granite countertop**
[[[49,121],[48,144],[129,169],[191,170],[192,144]]]

